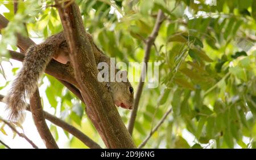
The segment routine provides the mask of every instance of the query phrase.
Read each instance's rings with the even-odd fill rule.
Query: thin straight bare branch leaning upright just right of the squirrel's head
[[[164,17],[164,14],[163,14],[162,10],[159,10],[158,11],[158,16],[157,16],[156,21],[155,21],[154,29],[153,29],[152,33],[150,34],[150,36],[147,38],[147,41],[146,41],[144,60],[143,60],[143,62],[146,64],[146,66],[143,66],[143,68],[142,68],[141,78],[139,79],[139,86],[138,86],[138,89],[137,89],[137,93],[135,95],[133,111],[131,112],[130,122],[129,122],[129,126],[128,126],[128,131],[131,135],[133,134],[133,128],[134,128],[134,123],[135,123],[135,119],[136,119],[136,116],[137,116],[139,100],[141,98],[143,85],[144,85],[145,76],[142,76],[142,74],[147,72],[147,62],[150,58],[151,46],[154,44],[156,36],[158,36],[160,25],[163,22],[163,17]]]

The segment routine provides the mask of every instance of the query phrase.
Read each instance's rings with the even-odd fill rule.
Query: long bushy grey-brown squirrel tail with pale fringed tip
[[[7,105],[8,118],[11,121],[23,122],[24,110],[27,107],[26,97],[29,98],[35,92],[38,79],[46,69],[55,49],[54,44],[43,43],[31,46],[27,50],[23,67],[3,100]]]

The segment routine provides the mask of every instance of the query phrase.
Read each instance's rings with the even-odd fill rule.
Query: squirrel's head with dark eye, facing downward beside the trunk
[[[110,88],[112,90],[112,97],[116,106],[129,110],[133,109],[134,89],[128,79],[126,81],[110,82]]]

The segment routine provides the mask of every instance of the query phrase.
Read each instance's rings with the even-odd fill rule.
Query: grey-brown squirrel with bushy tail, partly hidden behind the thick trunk
[[[110,65],[110,58],[98,49],[93,42],[92,36],[89,33],[86,33],[86,36],[91,44],[94,45],[93,49],[96,48],[98,50],[97,52],[94,51],[96,62],[106,62]],[[23,122],[24,110],[27,107],[26,98],[30,98],[35,92],[36,87],[38,87],[38,80],[46,70],[47,64],[52,58],[63,64],[68,63],[70,61],[68,52],[68,44],[65,40],[64,32],[48,37],[42,44],[28,48],[23,60],[23,67],[18,72],[9,92],[3,99],[7,105],[8,118],[11,121]],[[124,109],[133,109],[134,89],[129,81],[114,81],[109,82],[107,85],[116,106]]]

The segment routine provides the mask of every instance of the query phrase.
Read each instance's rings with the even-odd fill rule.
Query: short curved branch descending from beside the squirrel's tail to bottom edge
[[[38,88],[36,89],[36,92],[30,97],[30,109],[35,126],[38,129],[38,133],[44,141],[46,148],[58,149],[59,147],[57,146],[57,143],[46,124],[46,120],[44,119],[43,107]]]

